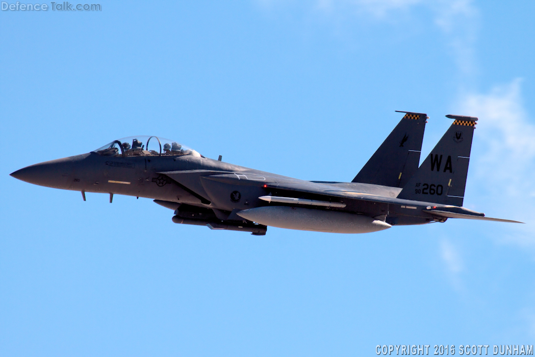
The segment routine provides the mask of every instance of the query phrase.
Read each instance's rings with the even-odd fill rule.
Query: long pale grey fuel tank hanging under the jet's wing
[[[392,227],[365,215],[301,207],[266,206],[237,214],[265,226],[315,232],[370,233]]]

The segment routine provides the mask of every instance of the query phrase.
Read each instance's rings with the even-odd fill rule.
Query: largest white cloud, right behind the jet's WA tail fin
[[[464,94],[457,108],[480,118],[470,164],[480,200],[496,214],[528,220],[528,225],[508,226],[502,240],[535,247],[529,213],[535,210],[535,124],[524,109],[521,83],[515,79],[488,93]]]

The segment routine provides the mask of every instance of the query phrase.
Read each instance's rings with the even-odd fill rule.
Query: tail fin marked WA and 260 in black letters
[[[398,198],[462,206],[476,117],[455,119]]]

